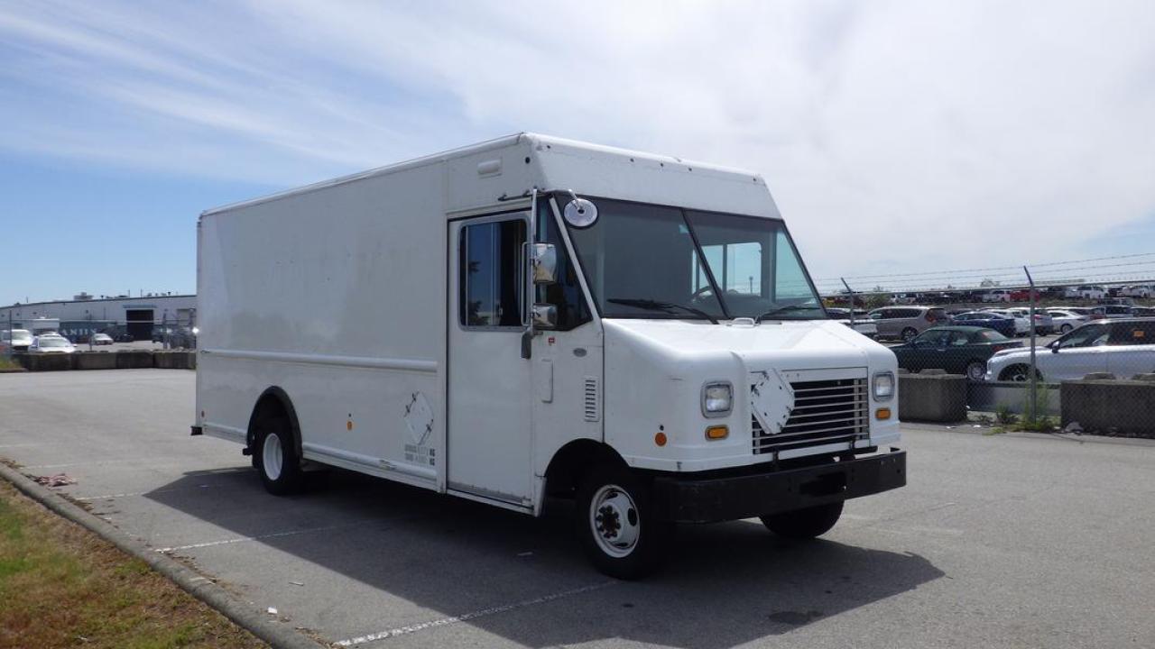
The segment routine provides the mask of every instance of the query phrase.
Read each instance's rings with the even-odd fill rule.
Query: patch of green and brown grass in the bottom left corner
[[[143,561],[0,480],[0,649],[266,647]]]

